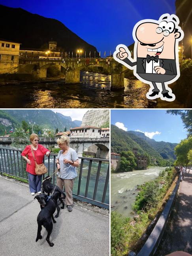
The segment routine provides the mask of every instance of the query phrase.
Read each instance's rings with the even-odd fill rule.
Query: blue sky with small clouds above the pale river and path
[[[166,110],[111,110],[111,124],[125,131],[142,131],[155,141],[179,143],[187,135],[180,116]]]

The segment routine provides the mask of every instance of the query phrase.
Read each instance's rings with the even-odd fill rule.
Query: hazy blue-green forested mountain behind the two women
[[[21,122],[36,122],[42,128],[64,131],[79,126],[81,121],[72,121],[70,116],[55,113],[52,110],[0,110],[0,135],[5,134],[11,127],[21,126]]]

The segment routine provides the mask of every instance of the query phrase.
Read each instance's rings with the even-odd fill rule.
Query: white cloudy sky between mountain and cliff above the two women
[[[51,109],[53,112],[58,112],[66,116],[70,116],[72,121],[79,120],[82,121],[83,115],[88,111],[86,108],[77,108],[77,109]]]

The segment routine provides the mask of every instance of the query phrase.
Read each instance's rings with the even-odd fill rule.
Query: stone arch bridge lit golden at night
[[[79,83],[81,69],[90,65],[103,67],[109,71],[111,74],[111,89],[124,88],[124,73],[129,69],[113,58],[66,58],[62,60],[21,58],[19,59],[17,72],[30,73],[35,79],[45,79],[47,69],[55,67],[65,74],[65,83]]]

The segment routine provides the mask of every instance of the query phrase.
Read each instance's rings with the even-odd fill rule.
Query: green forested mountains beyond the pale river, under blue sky
[[[174,147],[177,143],[169,143],[145,136],[144,133],[135,131],[123,131],[115,125],[111,125],[111,152],[120,154],[122,151],[138,149],[138,154],[149,154],[151,160],[169,160],[172,163],[176,159]]]

